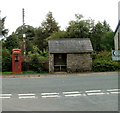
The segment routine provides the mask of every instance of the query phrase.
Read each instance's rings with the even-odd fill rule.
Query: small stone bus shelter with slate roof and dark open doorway
[[[89,38],[50,39],[49,72],[83,72],[92,69]]]

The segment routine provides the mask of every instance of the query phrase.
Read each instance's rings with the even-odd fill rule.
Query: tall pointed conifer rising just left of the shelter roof
[[[35,45],[37,45],[41,51],[47,49],[48,42],[46,39],[57,31],[59,31],[58,23],[53,18],[52,12],[49,12],[41,26],[35,29]]]

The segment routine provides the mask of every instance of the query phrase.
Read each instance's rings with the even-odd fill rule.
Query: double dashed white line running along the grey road
[[[104,91],[104,92],[103,92]],[[62,94],[64,97],[77,97],[77,96],[90,96],[90,95],[104,95],[104,94],[119,94],[120,89],[107,89],[107,90],[88,90],[84,91],[85,93],[81,93],[80,91],[64,91]],[[17,94],[19,99],[27,99],[27,98],[37,98],[36,94],[28,93],[28,94]],[[0,94],[0,99],[9,99],[12,97],[12,94]],[[59,93],[51,92],[51,93],[41,93],[42,98],[57,98],[61,97]]]

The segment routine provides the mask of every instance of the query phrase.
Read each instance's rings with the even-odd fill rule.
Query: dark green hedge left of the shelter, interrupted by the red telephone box
[[[8,49],[3,48],[2,50],[2,72],[12,71],[12,52]],[[26,62],[22,62],[22,71],[31,71],[36,73],[48,72],[48,55],[42,56],[41,54],[29,53],[26,56]]]

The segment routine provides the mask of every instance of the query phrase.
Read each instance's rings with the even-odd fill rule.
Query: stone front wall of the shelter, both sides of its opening
[[[67,54],[67,72],[84,72],[92,69],[90,53]],[[54,54],[49,54],[49,72],[54,72]]]

